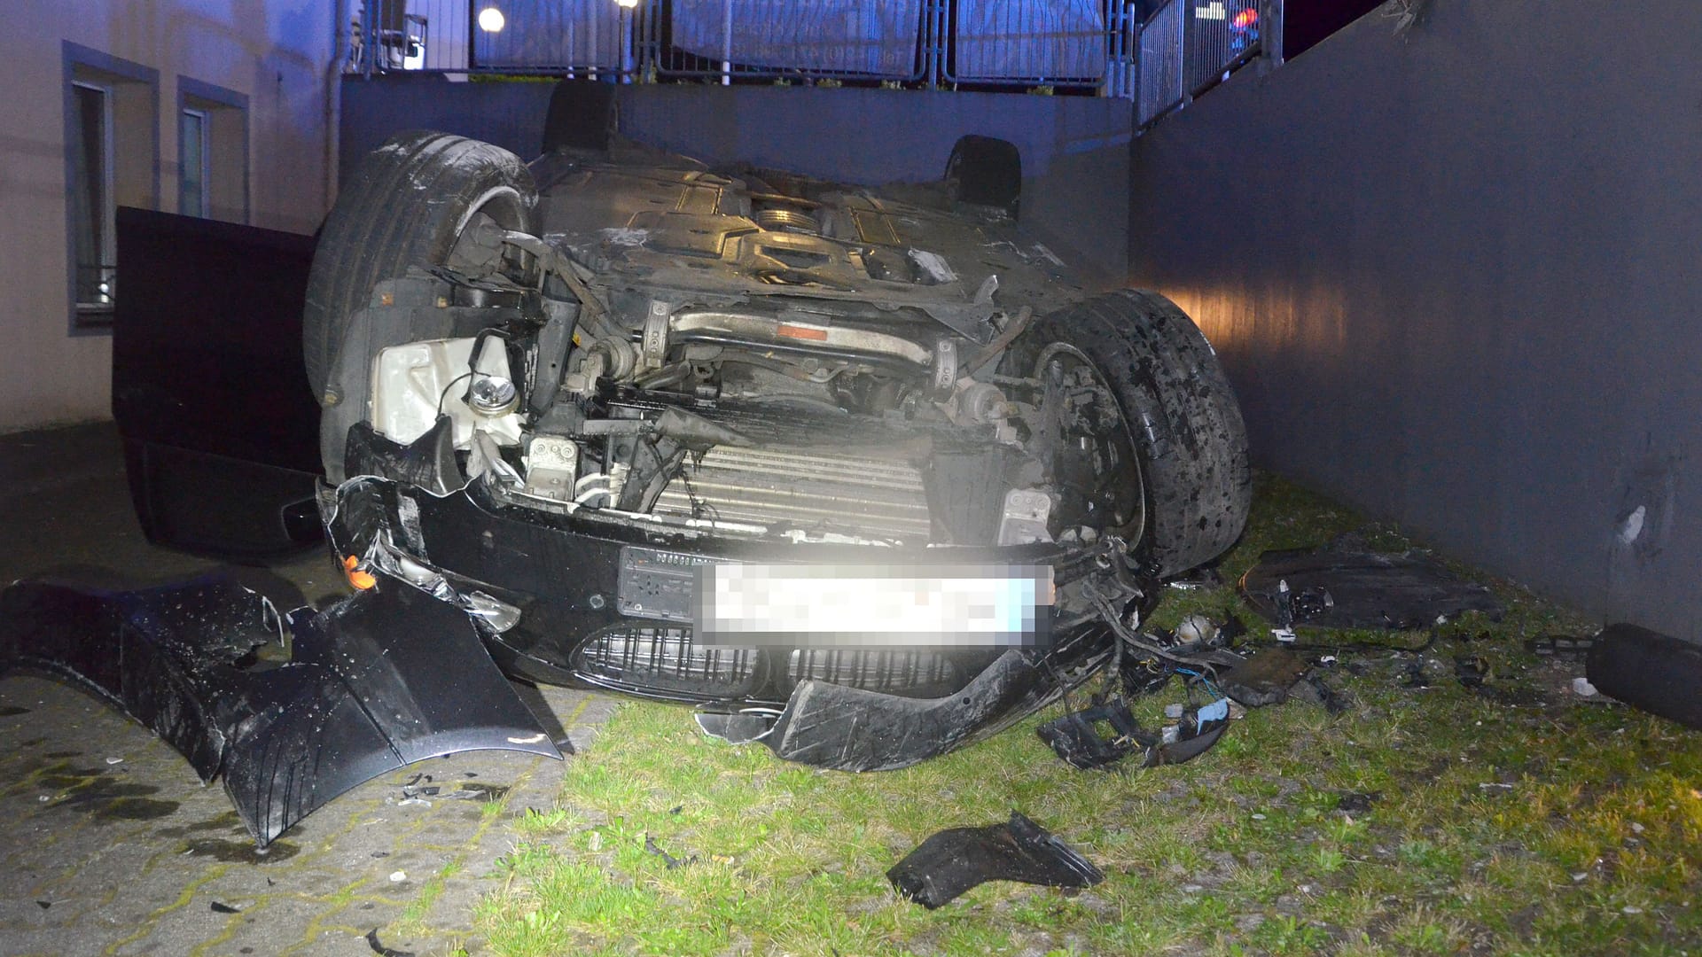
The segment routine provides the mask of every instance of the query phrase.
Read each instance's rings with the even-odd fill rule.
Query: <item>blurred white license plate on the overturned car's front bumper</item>
[[[1043,644],[1050,565],[761,565],[696,569],[693,628],[717,645]]]

